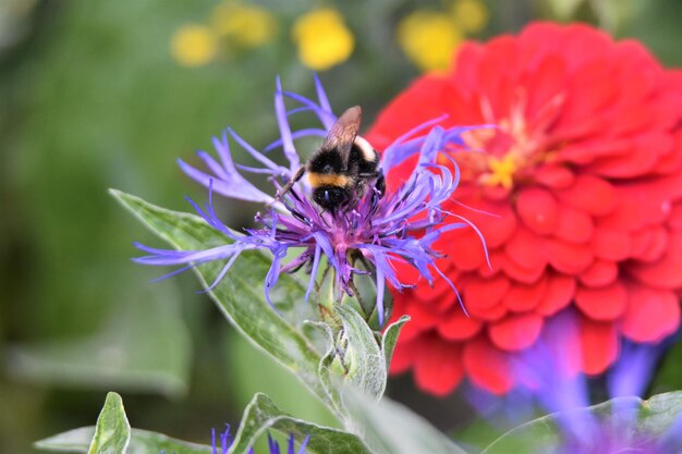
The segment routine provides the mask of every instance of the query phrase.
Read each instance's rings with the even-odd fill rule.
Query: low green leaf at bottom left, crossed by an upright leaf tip
[[[86,454],[94,434],[94,426],[82,427],[40,440],[35,443],[35,447],[49,452]],[[211,447],[175,440],[148,430],[132,430],[126,454],[160,454],[162,451],[167,454],[210,454]]]

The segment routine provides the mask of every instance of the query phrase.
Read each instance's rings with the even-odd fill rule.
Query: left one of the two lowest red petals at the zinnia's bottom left
[[[463,376],[461,344],[437,338],[424,342],[414,366],[417,386],[437,396],[444,396],[456,388]]]

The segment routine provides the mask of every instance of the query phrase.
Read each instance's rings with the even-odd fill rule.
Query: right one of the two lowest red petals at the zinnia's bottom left
[[[504,394],[514,384],[509,356],[490,345],[485,338],[464,344],[464,369],[471,381],[495,394]]]

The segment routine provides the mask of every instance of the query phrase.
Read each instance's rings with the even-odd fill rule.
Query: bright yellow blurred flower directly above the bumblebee
[[[299,46],[299,58],[317,71],[344,62],[353,53],[355,40],[337,10],[319,9],[296,20],[292,38]]]

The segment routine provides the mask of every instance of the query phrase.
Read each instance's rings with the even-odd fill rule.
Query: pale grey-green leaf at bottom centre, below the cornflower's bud
[[[387,397],[375,403],[352,390],[343,397],[355,425],[353,432],[362,433],[376,454],[466,454],[419,415]]]

